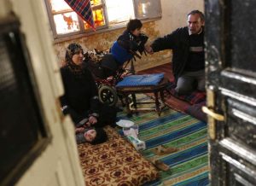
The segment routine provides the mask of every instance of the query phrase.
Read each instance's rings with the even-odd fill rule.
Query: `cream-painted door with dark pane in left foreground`
[[[1,48],[1,52],[3,53],[0,57],[1,67],[3,68],[3,70],[9,70],[8,72],[4,72],[3,74],[1,74],[1,81],[3,81],[2,83],[10,82],[12,88],[16,85],[15,80],[13,79],[18,79],[21,75],[24,74],[30,74],[24,78],[26,79],[26,82],[22,81],[23,78],[19,79],[19,81],[17,80],[17,84],[20,84],[20,86],[16,86],[21,87],[22,89],[20,88],[20,90],[22,90],[22,92],[16,93],[15,95],[18,95],[16,97],[20,98],[21,96],[19,96],[19,94],[26,94],[26,92],[30,93],[30,91],[28,90],[31,89],[28,88],[32,87],[32,89],[34,90],[32,92],[35,92],[34,95],[36,95],[35,97],[37,97],[37,99],[33,99],[33,101],[37,100],[37,104],[34,105],[38,105],[38,115],[40,115],[40,118],[42,118],[42,120],[44,121],[42,123],[44,123],[45,129],[43,130],[44,134],[42,135],[39,133],[38,135],[35,134],[34,131],[36,127],[34,127],[33,125],[33,127],[31,127],[33,131],[28,127],[19,131],[20,133],[22,133],[22,137],[24,136],[24,134],[26,134],[29,137],[24,137],[25,139],[32,138],[35,142],[27,142],[28,140],[23,140],[22,142],[13,142],[15,142],[15,144],[26,144],[26,146],[30,145],[28,148],[25,145],[14,146],[12,142],[9,143],[10,148],[18,147],[19,149],[22,149],[22,151],[19,149],[13,150],[14,152],[22,152],[22,156],[17,154],[17,157],[19,159],[11,159],[18,161],[16,165],[14,165],[13,163],[4,164],[5,167],[11,166],[12,169],[9,168],[9,170],[11,170],[10,173],[4,171],[3,167],[1,167],[5,175],[7,174],[8,176],[4,177],[3,180],[0,180],[0,185],[83,186],[84,177],[81,166],[79,164],[79,154],[75,142],[73,124],[70,118],[61,117],[60,104],[58,104],[58,99],[59,96],[63,94],[63,89],[61,84],[61,75],[58,71],[59,67],[57,66],[57,61],[55,59],[52,37],[49,30],[49,20],[46,14],[44,0],[0,1],[0,7],[0,21],[4,20],[3,25],[9,25],[9,22],[12,22],[12,20],[16,19],[20,21],[19,28],[17,28],[17,24],[10,24],[11,28],[9,29],[10,31],[8,30],[8,32],[4,30],[5,27],[1,27],[1,33],[4,32],[4,39],[0,39],[1,46],[9,46],[9,44],[12,44],[11,46],[18,46],[16,48],[19,48],[16,49],[6,47],[7,49],[5,50],[3,47]],[[13,12],[15,14],[15,18],[11,16],[12,14],[9,15],[9,12]],[[3,18],[7,19],[5,20]],[[15,30],[15,32],[12,30]],[[16,34],[16,30],[19,30],[20,34]],[[23,37],[15,37],[16,35],[24,36],[24,42],[22,42],[22,44],[20,44],[17,38]],[[6,42],[5,38],[9,42]],[[20,47],[20,45],[22,46]],[[14,52],[16,50],[18,50],[19,52]],[[6,53],[5,51],[9,51],[9,53]],[[9,57],[5,55],[8,55]],[[30,60],[26,60],[25,63],[25,60],[21,60],[21,58],[18,58],[17,56],[22,56],[22,59],[26,58]],[[14,58],[15,60],[13,60]],[[12,61],[12,63],[8,60]],[[15,64],[15,66],[13,67],[12,64]],[[26,64],[26,66],[24,64]],[[12,75],[12,70],[15,69],[14,72],[16,72],[19,70],[19,67],[23,67],[22,72],[25,73],[15,73],[21,74],[19,76],[16,76],[16,78],[15,75]],[[32,82],[32,86],[26,85],[28,84],[27,82]],[[5,88],[6,90],[4,91],[4,94],[2,94],[3,96],[9,94],[6,87],[7,86],[1,87]],[[1,93],[3,93],[3,90],[1,91]],[[2,98],[4,98],[3,96]],[[27,100],[30,99],[27,98]],[[1,103],[3,103],[3,100],[1,101]],[[25,105],[28,104],[28,102],[26,102],[26,100],[21,101],[25,103],[23,105],[19,104],[19,107],[20,109],[25,109],[25,111],[20,113],[28,112],[28,110],[26,110],[27,105]],[[1,106],[3,107],[0,109],[1,112],[3,113],[3,111],[11,110],[5,109],[8,108],[9,105],[10,103],[7,103],[6,105],[2,104]],[[35,112],[27,113],[27,118],[29,118],[29,116],[32,117],[32,114],[35,114]],[[17,114],[15,114],[14,112],[12,113],[12,116],[18,117],[19,115],[17,116]],[[23,115],[23,117],[26,116],[25,114]],[[1,118],[0,120],[3,119]],[[18,120],[18,122],[16,122],[16,125],[18,127],[14,127],[14,130],[19,130],[19,122],[21,121],[19,121],[19,119],[16,120]],[[27,120],[31,121],[32,119]],[[13,123],[14,122],[12,122],[12,124]],[[1,123],[1,125],[3,124]],[[4,124],[4,129],[8,129],[8,126],[6,125],[8,124]],[[6,134],[8,134],[6,131],[1,131],[1,139],[17,139],[13,136],[6,137]],[[17,133],[17,131],[10,132],[9,136],[14,135],[15,132]],[[39,142],[44,142],[44,148],[42,148],[41,145],[40,149],[38,149],[38,146],[34,145],[34,143],[38,144]],[[26,151],[27,154],[26,152],[23,153],[24,151]],[[2,151],[1,154],[3,155]],[[11,155],[15,156],[13,154]],[[1,163],[2,162],[4,162],[4,160],[2,160]],[[1,166],[3,166],[3,164],[1,164]]]

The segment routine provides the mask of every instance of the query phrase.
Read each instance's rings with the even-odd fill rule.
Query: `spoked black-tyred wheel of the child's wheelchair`
[[[102,103],[108,104],[109,106],[115,106],[118,102],[118,95],[113,87],[108,85],[102,85],[99,88],[99,100]]]

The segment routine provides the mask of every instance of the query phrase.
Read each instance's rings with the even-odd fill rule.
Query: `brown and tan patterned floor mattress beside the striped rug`
[[[110,126],[108,142],[79,145],[86,186],[137,186],[159,177],[157,169]]]

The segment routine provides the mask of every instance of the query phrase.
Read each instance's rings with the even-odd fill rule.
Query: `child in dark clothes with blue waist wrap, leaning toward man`
[[[136,60],[136,57],[141,58],[144,44],[148,41],[148,37],[141,32],[142,27],[141,20],[130,20],[125,32],[113,43],[109,53],[96,51],[96,55],[101,55],[98,61],[94,61],[88,53],[84,55],[84,60],[95,78],[106,79],[119,75],[124,72],[123,65],[126,61]]]

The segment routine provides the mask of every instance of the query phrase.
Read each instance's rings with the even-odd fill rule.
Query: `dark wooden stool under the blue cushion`
[[[159,84],[157,85],[146,85],[146,86],[123,86],[116,87],[117,92],[125,97],[125,106],[127,108],[128,114],[132,113],[132,111],[145,111],[145,110],[156,110],[158,115],[160,116],[162,108],[165,107],[164,101],[164,90],[166,90],[166,86],[168,84],[168,79],[163,78]],[[162,103],[160,104],[158,99],[158,94],[160,92],[160,99]],[[136,94],[142,93],[154,93],[154,102],[137,102]],[[132,96],[132,103],[129,104],[128,96]],[[155,108],[137,108],[137,104],[149,104],[155,103]],[[131,107],[133,106],[133,108]]]

